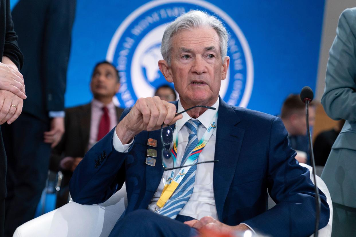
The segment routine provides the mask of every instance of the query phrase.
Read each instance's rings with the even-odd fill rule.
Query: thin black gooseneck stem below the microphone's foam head
[[[315,220],[315,231],[314,237],[318,237],[319,230],[319,220],[320,220],[320,196],[319,196],[319,188],[316,186],[316,175],[315,175],[315,160],[314,160],[314,152],[313,152],[313,144],[312,144],[312,135],[309,130],[309,102],[308,98],[305,99],[305,120],[307,121],[307,134],[309,137],[309,148],[310,148],[310,162],[313,166],[313,177],[314,177],[314,191],[315,191],[315,204],[316,204],[316,220]]]

